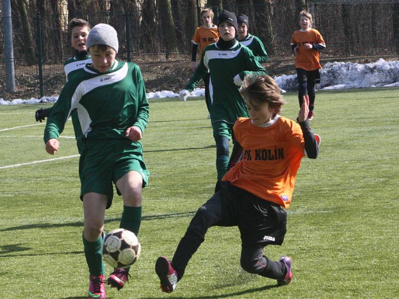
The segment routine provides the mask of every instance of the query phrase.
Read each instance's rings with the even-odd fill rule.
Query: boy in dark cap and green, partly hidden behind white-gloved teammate
[[[269,61],[269,56],[263,46],[263,43],[260,41],[258,37],[255,35],[248,33],[249,19],[245,14],[237,15],[237,23],[238,23],[238,32],[237,32],[237,40],[243,46],[248,47],[253,55],[255,55],[256,60],[259,63],[264,63]]]

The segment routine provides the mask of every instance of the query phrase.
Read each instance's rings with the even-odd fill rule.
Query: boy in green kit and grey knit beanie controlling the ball
[[[123,198],[120,228],[139,232],[142,188],[149,177],[139,140],[148,123],[149,104],[140,68],[115,59],[118,37],[112,26],[94,26],[86,45],[92,63],[66,83],[47,119],[44,143],[50,154],[59,149],[58,137],[76,110],[83,135],[79,159],[83,245],[90,273],[88,295],[93,299],[105,298],[101,232],[112,204],[113,183]],[[123,288],[128,271],[115,268],[108,284]]]

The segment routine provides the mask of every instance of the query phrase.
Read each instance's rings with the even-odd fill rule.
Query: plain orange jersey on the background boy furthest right
[[[305,43],[320,44],[326,47],[326,44],[320,32],[310,28],[307,31],[296,30],[292,35],[291,45],[296,45],[298,54],[295,56],[295,68],[301,68],[307,71],[314,71],[321,68],[319,63],[319,51],[315,49],[306,49]]]

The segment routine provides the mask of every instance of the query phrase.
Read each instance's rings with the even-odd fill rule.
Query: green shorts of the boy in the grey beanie
[[[105,194],[108,209],[114,195],[112,183],[129,171],[139,172],[143,187],[147,185],[150,172],[144,163],[141,143],[129,139],[85,139],[79,159],[80,198],[89,192]]]

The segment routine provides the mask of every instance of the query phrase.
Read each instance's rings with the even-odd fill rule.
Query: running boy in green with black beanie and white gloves
[[[236,39],[237,18],[223,10],[217,21],[220,38],[202,51],[200,64],[179,96],[186,101],[203,76],[209,72],[211,99],[210,120],[216,142],[216,170],[219,181],[227,171],[229,140],[233,139],[233,125],[239,117],[248,117],[239,86],[247,74],[267,75],[251,50]]]

